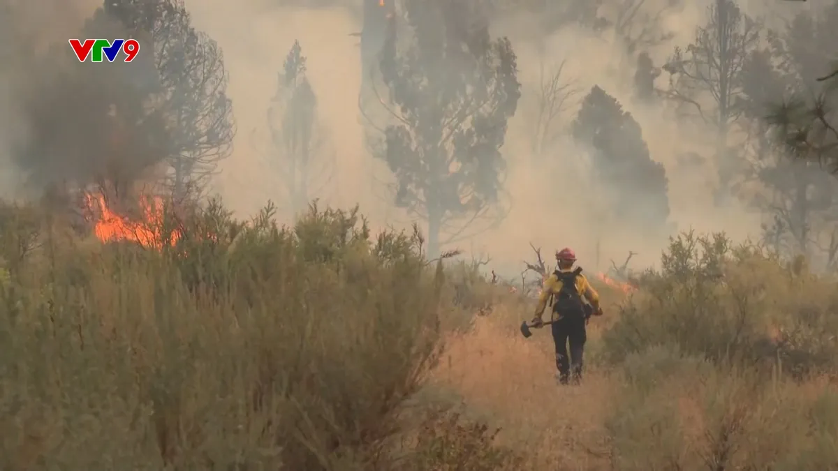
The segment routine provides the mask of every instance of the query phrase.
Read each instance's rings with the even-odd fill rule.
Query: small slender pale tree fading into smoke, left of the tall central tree
[[[328,196],[337,168],[299,42],[294,41],[282,69],[267,111],[269,153],[272,168],[282,175],[291,210],[297,213],[308,207],[313,196]]]

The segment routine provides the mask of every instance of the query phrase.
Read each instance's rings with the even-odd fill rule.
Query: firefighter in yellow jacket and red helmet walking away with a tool
[[[532,320],[534,327],[544,325],[541,316],[547,306],[547,300],[553,298],[551,329],[553,341],[556,343],[557,379],[562,385],[568,384],[570,380],[574,384],[582,380],[582,355],[587,340],[587,320],[591,315],[603,315],[603,308],[599,305],[599,294],[587,281],[587,277],[582,275],[582,268],[573,268],[576,261],[576,253],[571,249],[556,251],[556,272],[544,282],[538,306],[535,308],[535,318]]]

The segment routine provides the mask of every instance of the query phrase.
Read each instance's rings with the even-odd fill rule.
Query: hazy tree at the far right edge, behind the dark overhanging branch
[[[754,167],[764,191],[755,203],[768,219],[766,241],[831,271],[838,270],[838,181],[829,174],[838,170],[838,93],[829,84],[836,22],[838,3],[799,13],[753,54],[745,81],[760,131]]]

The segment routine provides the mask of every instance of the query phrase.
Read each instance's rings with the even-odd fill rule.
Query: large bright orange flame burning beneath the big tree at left
[[[100,241],[134,241],[147,248],[163,248],[165,237],[159,232],[163,223],[163,199],[141,199],[142,220],[139,221],[132,221],[127,216],[111,210],[102,194],[88,194],[85,199],[89,209],[92,210],[94,204],[99,209],[94,233]],[[172,233],[172,246],[178,241],[178,237],[178,232]]]

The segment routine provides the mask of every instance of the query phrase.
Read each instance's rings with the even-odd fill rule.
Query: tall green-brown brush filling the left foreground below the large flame
[[[374,237],[357,210],[186,213],[155,250],[3,208],[0,468],[398,468],[440,313],[468,315],[421,240]]]

